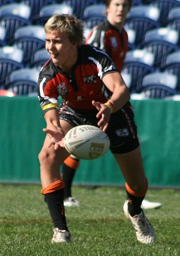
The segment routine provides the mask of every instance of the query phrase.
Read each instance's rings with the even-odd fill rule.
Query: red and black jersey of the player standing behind
[[[86,43],[105,51],[118,70],[122,70],[125,54],[128,51],[128,35],[124,28],[119,32],[108,20],[105,20],[92,29]]]

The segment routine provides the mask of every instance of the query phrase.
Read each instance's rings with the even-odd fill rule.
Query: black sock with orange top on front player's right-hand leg
[[[128,211],[130,215],[133,217],[136,214],[140,214],[142,211],[141,204],[148,190],[148,182],[146,181],[146,188],[142,193],[134,192],[127,183],[125,184],[125,189],[127,192]]]

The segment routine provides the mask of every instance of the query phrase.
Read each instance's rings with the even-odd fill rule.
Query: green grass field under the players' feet
[[[40,186],[0,185],[1,256],[179,256],[180,191],[148,190],[146,199],[160,201],[146,210],[157,242],[143,245],[122,211],[125,191],[100,187],[73,187],[79,208],[65,208],[73,242],[51,244],[52,222]]]

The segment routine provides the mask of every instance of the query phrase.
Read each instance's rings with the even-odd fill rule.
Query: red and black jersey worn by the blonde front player
[[[91,45],[82,45],[71,74],[47,61],[40,70],[37,82],[38,98],[44,113],[58,108],[58,97],[70,107],[79,110],[93,110],[92,100],[106,102],[112,93],[102,78],[110,72],[117,72],[109,56]]]

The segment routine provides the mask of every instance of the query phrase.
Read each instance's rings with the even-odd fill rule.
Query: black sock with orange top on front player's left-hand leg
[[[64,211],[64,184],[62,181],[55,181],[43,189],[41,193],[44,195],[44,201],[49,208],[50,216],[52,217],[55,228],[67,230],[67,222]],[[57,190],[56,190],[57,189]]]

